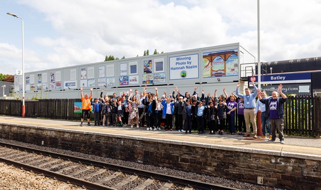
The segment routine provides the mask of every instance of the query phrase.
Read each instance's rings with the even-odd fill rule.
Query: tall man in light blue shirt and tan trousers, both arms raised
[[[254,81],[252,81],[252,85],[254,87],[254,93],[250,93],[251,89],[246,88],[245,89],[245,94],[240,94],[239,93],[239,87],[241,86],[240,83],[237,84],[236,86],[236,91],[235,94],[238,97],[243,98],[244,100],[244,119],[245,119],[245,125],[246,125],[246,134],[243,135],[244,137],[250,136],[250,120],[252,122],[252,127],[253,127],[253,133],[254,137],[257,138],[257,129],[256,129],[256,120],[254,117],[254,111],[255,111],[255,97],[256,97],[256,90],[257,87],[254,84]]]

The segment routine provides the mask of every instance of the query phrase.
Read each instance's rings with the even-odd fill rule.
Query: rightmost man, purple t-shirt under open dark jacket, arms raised
[[[281,97],[278,97],[279,93]],[[272,92],[272,97],[263,98],[260,95],[260,89],[257,89],[257,97],[259,100],[265,104],[266,113],[265,117],[270,119],[271,122],[271,132],[272,139],[268,140],[269,142],[274,142],[276,138],[275,129],[279,134],[280,143],[284,144],[284,136],[283,136],[283,118],[284,118],[284,110],[283,104],[286,102],[286,95],[282,93],[282,84],[280,84],[277,88],[277,92]]]

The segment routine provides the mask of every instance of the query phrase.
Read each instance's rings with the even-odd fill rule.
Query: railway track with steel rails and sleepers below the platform
[[[236,189],[3,142],[0,161],[88,189]]]

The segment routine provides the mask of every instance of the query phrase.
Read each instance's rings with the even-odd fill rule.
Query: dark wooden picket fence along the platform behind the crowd
[[[80,113],[74,113],[75,102],[81,102],[81,100],[41,99],[26,101],[26,117],[80,120]],[[21,116],[22,101],[0,100],[0,114]],[[321,97],[289,97],[284,104],[284,115],[284,134],[320,137]],[[237,119],[237,117],[235,118]]]

